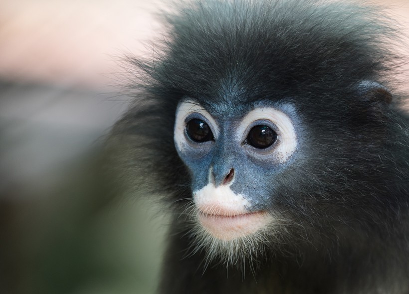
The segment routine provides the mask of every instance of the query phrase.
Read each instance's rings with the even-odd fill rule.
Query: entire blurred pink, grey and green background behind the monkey
[[[408,36],[409,0],[376,3]],[[120,60],[149,54],[163,5],[1,0],[0,294],[154,293],[167,220],[107,199],[98,157],[130,99]]]

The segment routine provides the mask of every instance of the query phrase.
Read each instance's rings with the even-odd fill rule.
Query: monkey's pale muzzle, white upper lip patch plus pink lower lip
[[[220,240],[243,238],[268,226],[272,217],[265,211],[249,211],[250,203],[229,186],[209,183],[194,192],[199,226]]]

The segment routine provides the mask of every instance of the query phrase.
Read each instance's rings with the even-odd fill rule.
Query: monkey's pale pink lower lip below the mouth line
[[[265,211],[209,214],[199,212],[199,222],[207,233],[220,240],[234,240],[251,235],[271,221]]]

